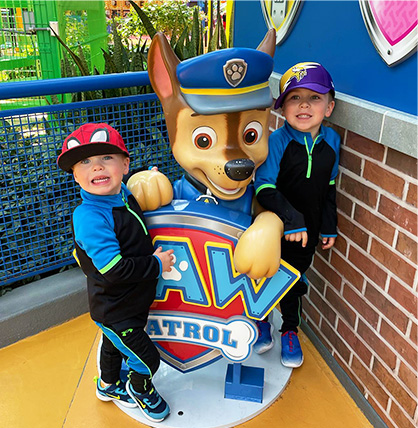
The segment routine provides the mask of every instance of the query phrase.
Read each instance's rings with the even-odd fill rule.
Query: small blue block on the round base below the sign
[[[225,398],[263,402],[264,369],[228,364],[225,377]]]

